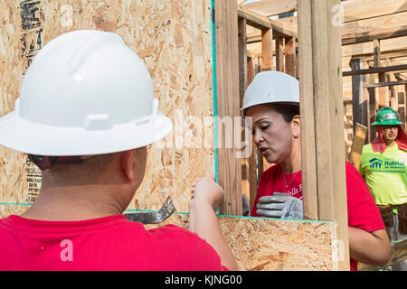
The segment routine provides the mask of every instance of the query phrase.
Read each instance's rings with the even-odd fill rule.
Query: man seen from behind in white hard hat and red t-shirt
[[[147,230],[122,214],[143,180],[147,145],[171,129],[144,63],[118,34],[76,31],[47,43],[15,110],[0,118],[0,144],[43,170],[32,207],[0,219],[0,270],[236,269],[213,210],[219,186],[195,188],[197,234]]]

